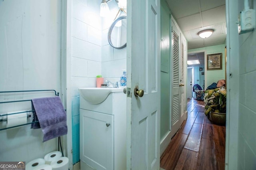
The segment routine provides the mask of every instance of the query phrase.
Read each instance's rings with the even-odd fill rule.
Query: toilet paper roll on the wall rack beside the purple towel
[[[15,112],[8,112],[7,113],[7,125],[6,127],[14,127],[22,124],[27,123],[27,112],[25,113],[18,113],[24,111],[15,111]],[[11,113],[17,113],[13,115],[9,115]]]

